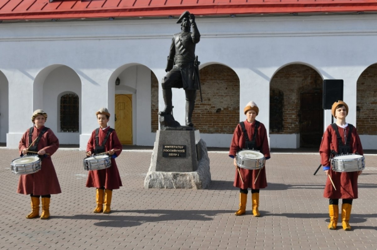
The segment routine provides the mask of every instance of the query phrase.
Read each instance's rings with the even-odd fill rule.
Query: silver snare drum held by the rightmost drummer
[[[365,168],[365,158],[358,154],[336,155],[331,159],[331,167],[335,172],[354,172]]]

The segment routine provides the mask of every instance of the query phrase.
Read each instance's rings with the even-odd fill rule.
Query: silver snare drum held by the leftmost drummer
[[[37,155],[26,155],[11,162],[12,173],[34,174],[41,170],[41,159]]]

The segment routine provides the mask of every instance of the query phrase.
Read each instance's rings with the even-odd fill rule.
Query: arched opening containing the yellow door
[[[114,95],[115,130],[120,142],[137,144],[138,139],[141,145],[146,145],[151,140],[148,133],[158,130],[159,86],[155,74],[147,66],[126,64],[114,71],[109,84],[109,93],[110,88],[114,91],[109,96],[109,102],[111,95]],[[150,113],[146,113],[146,110]]]

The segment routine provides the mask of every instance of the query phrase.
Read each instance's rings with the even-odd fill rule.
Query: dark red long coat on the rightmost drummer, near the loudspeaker
[[[338,126],[338,130],[344,144],[344,130],[346,130],[346,137],[348,137],[349,126],[347,126],[345,129]],[[357,134],[355,127],[352,129],[349,147],[351,148],[352,153],[358,152],[360,155],[364,154],[360,137]],[[321,146],[319,148],[322,166],[330,166],[329,159],[331,156],[331,150],[339,152],[336,132],[333,127],[329,125],[323,134]],[[331,184],[330,178],[327,178],[323,197],[329,199],[357,199],[357,171],[335,172],[331,170],[330,176],[334,182],[336,190],[334,189],[333,184]]]

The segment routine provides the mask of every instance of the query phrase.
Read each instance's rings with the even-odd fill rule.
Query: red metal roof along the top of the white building
[[[0,20],[375,12],[377,0],[0,0]]]

